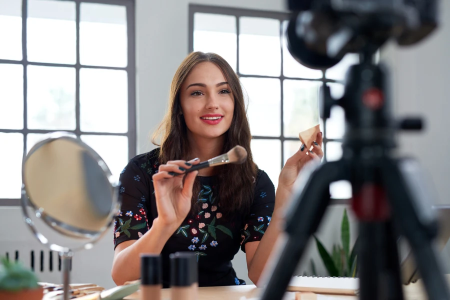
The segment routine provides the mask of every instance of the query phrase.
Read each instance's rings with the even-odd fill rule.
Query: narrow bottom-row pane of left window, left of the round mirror
[[[23,135],[0,132],[0,198],[20,198]]]

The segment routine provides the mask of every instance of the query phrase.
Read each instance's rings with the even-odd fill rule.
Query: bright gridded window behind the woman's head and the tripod
[[[345,72],[359,59],[347,54],[325,72],[302,66],[287,49],[288,17],[282,12],[189,6],[188,50],[215,52],[237,72],[248,95],[254,160],[275,188],[286,159],[301,145],[298,132],[302,130],[320,123],[323,159],[342,156],[343,109],[333,106],[329,119],[319,119],[318,90],[326,82],[334,97],[342,96]],[[346,181],[333,182],[330,191],[333,198],[351,197]]]

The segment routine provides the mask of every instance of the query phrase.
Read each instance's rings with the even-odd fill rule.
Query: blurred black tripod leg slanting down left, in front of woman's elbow
[[[266,272],[269,280],[261,300],[282,298],[309,237],[317,230],[328,206],[329,183],[347,179],[342,178],[345,173],[348,172],[345,172],[345,162],[342,160],[322,164],[315,170],[302,170],[296,181],[291,206],[286,210],[286,242],[274,267]]]

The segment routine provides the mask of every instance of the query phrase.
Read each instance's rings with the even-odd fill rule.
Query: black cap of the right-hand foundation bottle
[[[175,252],[170,258],[170,286],[190,286],[198,282],[198,264],[192,252]]]

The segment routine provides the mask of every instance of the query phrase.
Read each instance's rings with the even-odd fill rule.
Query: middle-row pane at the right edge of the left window
[[[81,68],[80,129],[90,132],[128,131],[126,71]]]

